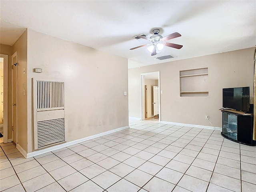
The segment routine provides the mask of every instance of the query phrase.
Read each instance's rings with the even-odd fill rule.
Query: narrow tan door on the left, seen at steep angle
[[[17,144],[17,52],[12,55],[12,141]]]

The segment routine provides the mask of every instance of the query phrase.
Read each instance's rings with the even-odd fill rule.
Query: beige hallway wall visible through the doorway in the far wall
[[[148,118],[154,116],[153,110],[153,86],[158,86],[158,80],[144,79],[144,85],[147,85],[147,107],[148,107]]]

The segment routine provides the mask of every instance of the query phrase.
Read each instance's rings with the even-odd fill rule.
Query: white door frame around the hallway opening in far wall
[[[158,74],[158,87],[159,87],[159,92],[158,92],[158,97],[159,97],[159,122],[161,122],[161,102],[160,102],[160,71],[155,71],[155,72],[150,72],[150,73],[142,73],[140,74],[140,120],[145,120],[145,88],[144,88],[144,76],[146,75],[152,75],[152,74]]]

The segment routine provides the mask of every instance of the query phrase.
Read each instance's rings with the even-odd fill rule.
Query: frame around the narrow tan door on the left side
[[[17,52],[15,52],[14,54],[12,54],[12,104],[13,104],[13,92],[14,92],[14,90],[13,90],[13,73],[14,73],[14,68],[13,68],[13,65],[14,65],[14,63],[13,63],[13,58],[16,56],[16,67],[15,67],[15,69],[16,69],[16,71],[15,71],[15,73],[16,73],[16,119],[15,119],[15,121],[16,121],[16,145],[18,144],[18,62],[17,62]],[[12,127],[13,127],[13,122],[14,122],[14,119],[13,119],[13,105],[12,105]],[[13,139],[13,128],[12,128],[12,141],[14,141],[14,139]]]

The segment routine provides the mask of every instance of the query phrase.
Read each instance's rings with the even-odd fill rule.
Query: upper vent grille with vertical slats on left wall
[[[64,107],[64,82],[37,81],[37,108]]]

